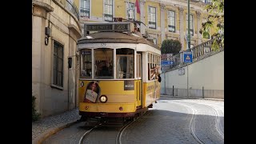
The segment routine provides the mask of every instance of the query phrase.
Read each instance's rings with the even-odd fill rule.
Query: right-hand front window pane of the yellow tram
[[[117,78],[134,78],[134,50],[117,49],[116,58]]]

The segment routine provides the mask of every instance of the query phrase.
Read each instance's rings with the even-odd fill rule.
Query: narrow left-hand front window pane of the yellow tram
[[[81,51],[81,78],[92,77],[91,50]]]

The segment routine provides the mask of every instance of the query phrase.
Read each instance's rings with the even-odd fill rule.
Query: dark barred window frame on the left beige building
[[[61,46],[62,48],[62,83],[61,85],[58,85],[58,74],[57,74],[57,83],[54,83],[54,50],[55,50],[55,43],[58,46]],[[58,42],[56,40],[53,39],[53,43],[52,43],[52,76],[51,76],[51,86],[58,88],[60,90],[64,89],[64,45],[61,42]],[[57,61],[57,73],[58,73],[58,61]]]

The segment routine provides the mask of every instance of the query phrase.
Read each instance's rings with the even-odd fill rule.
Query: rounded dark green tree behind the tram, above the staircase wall
[[[165,39],[162,42],[161,53],[162,54],[178,54],[182,50],[182,43],[178,40]]]

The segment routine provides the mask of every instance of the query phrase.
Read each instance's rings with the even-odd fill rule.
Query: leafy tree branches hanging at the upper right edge
[[[209,15],[206,22],[202,22],[202,29],[199,32],[205,37],[209,35],[210,28],[213,28],[217,31],[211,35],[212,39],[214,39],[213,50],[217,50],[220,47],[224,48],[224,0],[212,0],[206,5],[205,9]]]

